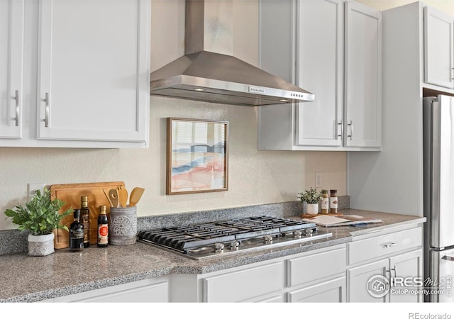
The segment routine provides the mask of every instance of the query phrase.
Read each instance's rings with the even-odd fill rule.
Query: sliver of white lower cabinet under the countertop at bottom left
[[[72,303],[165,303],[168,301],[167,279],[144,279],[53,299]]]

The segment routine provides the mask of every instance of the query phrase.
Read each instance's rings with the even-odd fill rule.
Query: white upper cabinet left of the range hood
[[[0,49],[1,57],[10,57],[0,67],[6,60],[11,68],[11,84],[0,79],[0,146],[148,147],[150,0],[25,1],[25,23],[18,19],[18,3],[23,5],[0,3],[13,8],[0,10],[11,20],[0,19],[1,26],[11,26],[11,35],[1,28],[1,43],[11,37],[11,52],[21,52],[21,43],[26,47],[23,72],[13,60],[21,55]],[[13,84],[21,74],[24,90]],[[22,138],[6,139],[4,126],[16,124],[16,101]]]

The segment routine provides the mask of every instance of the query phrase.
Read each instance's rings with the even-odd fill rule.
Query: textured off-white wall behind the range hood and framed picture
[[[235,1],[233,52],[257,65],[258,4]],[[152,68],[183,54],[184,1],[153,0]],[[230,121],[229,190],[191,195],[165,195],[165,118]],[[296,200],[297,192],[322,186],[345,195],[345,152],[258,151],[257,108],[150,98],[150,148],[91,150],[0,148],[0,213],[26,201],[29,182],[51,184],[124,181],[127,189],[145,188],[138,216],[181,213]],[[3,214],[1,214],[3,216]],[[0,216],[0,230],[13,229]]]

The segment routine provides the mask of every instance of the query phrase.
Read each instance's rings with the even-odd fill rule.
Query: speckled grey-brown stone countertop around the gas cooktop
[[[426,220],[423,217],[353,209],[340,213],[381,218],[383,223],[362,227],[319,227],[319,233],[333,233],[332,237],[213,259],[189,259],[141,242],[127,246],[109,245],[107,248],[92,245],[82,252],[55,250],[55,253],[45,257],[30,257],[26,252],[0,256],[0,302],[42,301],[169,274],[206,274],[340,245],[351,242],[353,236]]]

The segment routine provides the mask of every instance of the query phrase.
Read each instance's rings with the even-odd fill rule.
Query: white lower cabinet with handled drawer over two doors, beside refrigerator
[[[348,302],[422,302],[420,227],[379,233],[348,245]]]

